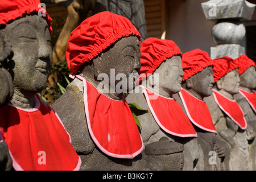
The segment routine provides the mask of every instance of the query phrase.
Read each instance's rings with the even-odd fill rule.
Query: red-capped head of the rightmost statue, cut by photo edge
[[[236,59],[238,63],[238,73],[240,75],[240,86],[250,90],[256,89],[256,64],[246,55],[241,55]]]

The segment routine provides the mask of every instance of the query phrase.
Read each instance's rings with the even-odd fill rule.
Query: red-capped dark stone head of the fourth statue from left
[[[183,88],[202,100],[212,94],[213,62],[207,52],[194,49],[183,54]]]

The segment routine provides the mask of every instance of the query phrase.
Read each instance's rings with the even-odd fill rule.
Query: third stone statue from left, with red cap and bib
[[[140,85],[129,93],[127,102],[135,102],[148,110],[148,113],[138,115],[146,154],[147,146],[165,138],[170,143],[168,147],[182,146],[180,152],[183,152],[184,162],[180,156],[170,155],[175,170],[203,170],[203,158],[200,158],[203,151],[197,144],[196,131],[172,98],[179,92],[183,77],[179,47],[172,40],[148,38],[141,44],[141,54]],[[166,146],[158,147],[151,150],[164,151]]]

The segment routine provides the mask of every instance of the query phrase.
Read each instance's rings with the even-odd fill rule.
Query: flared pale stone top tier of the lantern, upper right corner
[[[201,3],[208,20],[239,18],[251,19],[255,5],[245,0],[210,0]]]

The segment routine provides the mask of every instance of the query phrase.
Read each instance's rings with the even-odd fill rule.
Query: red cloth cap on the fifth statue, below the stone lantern
[[[227,73],[238,68],[237,61],[231,57],[224,56],[218,57],[213,60],[213,77],[214,82],[217,82],[221,77],[225,76]]]

